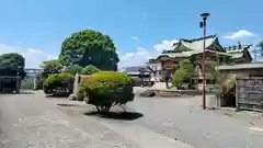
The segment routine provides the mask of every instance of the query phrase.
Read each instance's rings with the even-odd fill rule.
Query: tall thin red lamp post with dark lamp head
[[[203,109],[206,110],[206,70],[205,70],[205,60],[206,60],[206,19],[209,16],[209,13],[202,13],[201,16],[203,22],[201,22],[201,27],[204,29],[204,52],[202,57],[202,75],[203,75]]]

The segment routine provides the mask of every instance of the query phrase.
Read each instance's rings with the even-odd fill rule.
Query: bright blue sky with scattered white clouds
[[[1,0],[0,53],[19,52],[27,67],[55,58],[71,33],[110,35],[122,66],[140,65],[171,41],[201,37],[199,13],[211,13],[207,34],[222,45],[255,44],[263,34],[260,0]],[[133,62],[130,62],[133,60]]]

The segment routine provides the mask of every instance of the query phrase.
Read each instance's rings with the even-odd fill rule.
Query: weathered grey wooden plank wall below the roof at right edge
[[[263,112],[263,78],[237,78],[238,110]]]

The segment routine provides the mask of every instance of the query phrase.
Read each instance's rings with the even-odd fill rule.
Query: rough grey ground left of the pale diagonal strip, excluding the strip
[[[61,112],[41,98],[0,95],[0,148],[140,148],[100,122]]]

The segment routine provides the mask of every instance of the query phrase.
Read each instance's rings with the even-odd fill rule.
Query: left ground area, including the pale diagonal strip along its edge
[[[139,124],[58,107],[59,102],[42,93],[0,95],[0,148],[193,148]]]

